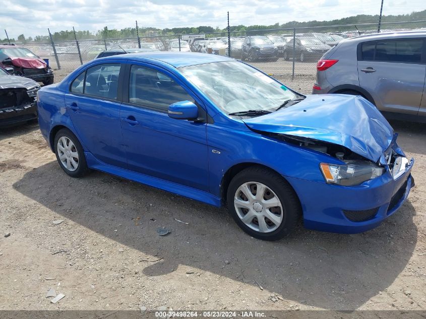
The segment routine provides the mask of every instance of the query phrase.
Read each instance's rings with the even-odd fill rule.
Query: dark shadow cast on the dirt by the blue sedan
[[[408,238],[417,235],[409,201],[367,233],[322,233],[300,225],[290,237],[264,242],[242,232],[225,209],[101,172],[73,179],[56,162],[27,172],[14,188],[102,236],[162,258],[143,269],[146,276],[188,265],[254,286],[256,280],[286,299],[322,308],[354,309],[391,285],[413,252]],[[118,224],[125,231],[114,231]],[[172,233],[160,237],[157,226]]]

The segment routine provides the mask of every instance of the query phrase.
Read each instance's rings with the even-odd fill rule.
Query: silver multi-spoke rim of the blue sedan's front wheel
[[[283,221],[283,208],[278,196],[265,184],[246,182],[240,185],[234,196],[237,216],[251,229],[269,233]]]

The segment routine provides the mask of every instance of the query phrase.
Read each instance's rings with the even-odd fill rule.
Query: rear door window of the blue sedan
[[[87,69],[84,94],[117,99],[119,63],[108,63]]]

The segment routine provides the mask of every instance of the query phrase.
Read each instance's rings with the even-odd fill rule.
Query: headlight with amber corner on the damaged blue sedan
[[[346,165],[320,164],[321,172],[328,184],[359,185],[383,175],[386,171],[384,167],[362,160],[348,160],[345,163]]]

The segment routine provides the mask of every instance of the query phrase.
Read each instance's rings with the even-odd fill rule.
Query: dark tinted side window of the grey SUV
[[[362,43],[362,59],[367,61],[420,63],[422,39],[383,40]]]

